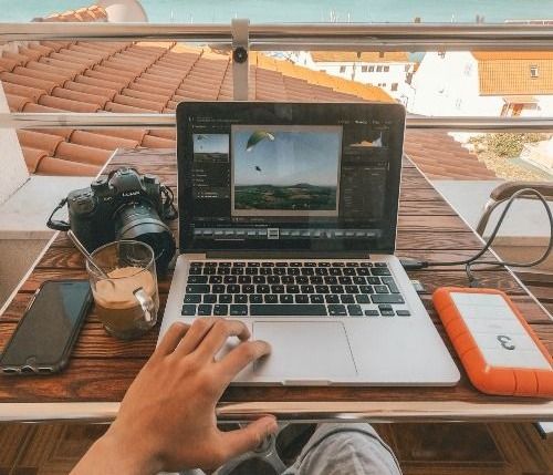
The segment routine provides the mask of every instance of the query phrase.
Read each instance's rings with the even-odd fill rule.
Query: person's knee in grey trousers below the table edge
[[[394,452],[369,424],[321,424],[283,475],[400,475]]]

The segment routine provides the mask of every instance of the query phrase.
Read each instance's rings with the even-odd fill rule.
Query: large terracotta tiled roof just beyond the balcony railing
[[[102,19],[105,11],[81,9],[43,21],[92,21],[90,16]],[[232,99],[228,53],[173,42],[32,43],[2,53],[0,81],[13,112],[160,113],[186,100]],[[250,100],[393,101],[379,87],[259,53],[250,55]],[[175,135],[167,128],[18,132],[30,172],[56,175],[95,175],[117,147],[175,148]],[[447,134],[409,132],[405,148],[430,178],[493,178]]]

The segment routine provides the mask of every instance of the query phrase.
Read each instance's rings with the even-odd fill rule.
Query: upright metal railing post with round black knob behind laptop
[[[248,101],[250,20],[232,19],[232,85],[234,101]]]

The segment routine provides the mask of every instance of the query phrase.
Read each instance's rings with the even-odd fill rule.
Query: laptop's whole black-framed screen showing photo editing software
[[[397,104],[181,103],[180,250],[394,250]]]

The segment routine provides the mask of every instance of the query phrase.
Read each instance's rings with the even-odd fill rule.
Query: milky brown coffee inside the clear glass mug
[[[109,279],[98,280],[94,290],[96,303],[104,308],[128,309],[136,307],[138,300],[134,291],[142,287],[148,296],[156,291],[152,272],[139,267],[121,267],[107,273]]]

